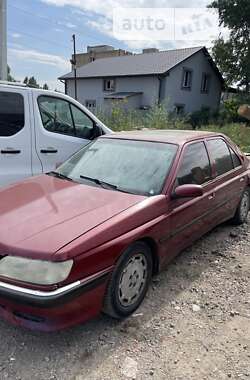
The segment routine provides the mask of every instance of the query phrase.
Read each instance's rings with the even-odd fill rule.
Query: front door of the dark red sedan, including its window
[[[171,256],[191,244],[214,226],[214,191],[212,171],[203,141],[184,147],[170,191],[170,234],[166,240]],[[177,198],[178,186],[197,184],[203,187],[203,195],[196,198]]]

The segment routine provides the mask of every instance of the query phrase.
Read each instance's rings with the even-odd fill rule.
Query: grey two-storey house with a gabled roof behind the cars
[[[59,78],[74,97],[74,72]],[[205,47],[168,51],[144,49],[142,54],[95,60],[77,69],[78,100],[94,111],[148,109],[165,104],[177,114],[215,110],[223,78]]]

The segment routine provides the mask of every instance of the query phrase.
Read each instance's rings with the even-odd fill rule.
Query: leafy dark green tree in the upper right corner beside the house
[[[214,0],[210,8],[219,13],[220,26],[229,29],[227,41],[214,42],[212,55],[228,86],[237,83],[250,90],[250,1]]]

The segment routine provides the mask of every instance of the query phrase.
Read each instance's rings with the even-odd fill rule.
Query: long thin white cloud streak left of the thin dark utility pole
[[[35,62],[43,65],[55,66],[60,70],[68,70],[70,67],[69,62],[58,55],[41,53],[37,50],[26,50],[26,49],[9,49],[9,56],[19,60],[24,60],[28,62]]]

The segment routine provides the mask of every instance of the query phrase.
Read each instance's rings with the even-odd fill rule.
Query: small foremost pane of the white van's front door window
[[[75,107],[73,104],[70,106],[75,124],[76,136],[83,139],[90,139],[93,136],[94,131],[93,120],[91,120],[83,111]]]

